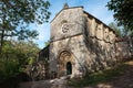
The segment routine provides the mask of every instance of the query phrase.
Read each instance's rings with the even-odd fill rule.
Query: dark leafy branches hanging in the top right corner
[[[108,2],[109,10],[114,11],[114,18],[126,31],[133,32],[133,0],[111,0]]]

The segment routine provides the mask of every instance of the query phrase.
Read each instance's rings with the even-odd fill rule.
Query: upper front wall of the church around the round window
[[[84,26],[82,14],[82,8],[60,11],[51,22],[51,42],[81,34]],[[68,32],[62,32],[63,24],[68,25]]]

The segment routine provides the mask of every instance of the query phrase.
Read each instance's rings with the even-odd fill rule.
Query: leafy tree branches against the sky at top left
[[[7,36],[18,36],[19,40],[37,36],[37,31],[25,28],[29,23],[48,22],[49,7],[50,3],[47,0],[0,0],[1,47]]]

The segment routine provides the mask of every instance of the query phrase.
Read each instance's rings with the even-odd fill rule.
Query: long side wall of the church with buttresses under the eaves
[[[88,54],[85,54],[85,67],[93,73],[116,63],[115,58],[115,33],[98,19],[84,13],[84,38]],[[91,57],[91,59],[90,59]]]

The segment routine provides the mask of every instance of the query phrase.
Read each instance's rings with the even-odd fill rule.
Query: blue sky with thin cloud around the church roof
[[[55,16],[55,14],[63,8],[64,3],[68,3],[69,7],[79,7],[82,6],[84,11],[94,15],[103,23],[109,24],[114,21],[113,12],[109,11],[105,7],[110,0],[49,0],[51,6],[49,11],[51,12],[51,16],[48,23],[31,24],[33,29],[38,30],[39,36],[35,40],[35,43],[40,48],[44,47],[44,42],[50,40],[50,22]]]

